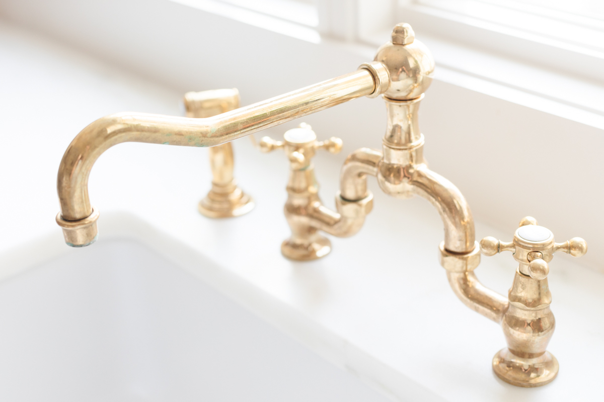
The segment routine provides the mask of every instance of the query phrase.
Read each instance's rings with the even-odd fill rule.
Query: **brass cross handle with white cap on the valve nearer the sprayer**
[[[332,154],[337,154],[342,149],[342,140],[338,137],[317,141],[315,132],[306,123],[286,131],[283,139],[283,141],[277,141],[271,137],[262,137],[259,144],[260,151],[271,152],[274,149],[283,148],[294,169],[303,169],[308,166],[316,149],[327,149]]]

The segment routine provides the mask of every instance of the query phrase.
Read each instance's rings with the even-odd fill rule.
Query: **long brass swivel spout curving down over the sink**
[[[375,75],[374,71],[362,66],[350,74],[210,118],[126,112],[92,122],[66,149],[57,175],[61,206],[57,223],[63,228],[66,242],[81,246],[94,241],[98,214],[93,215],[88,198],[88,176],[94,162],[111,146],[122,142],[220,145],[351,99],[377,96],[387,89],[388,77]]]

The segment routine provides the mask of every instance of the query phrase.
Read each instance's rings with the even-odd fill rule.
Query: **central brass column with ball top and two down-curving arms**
[[[362,148],[344,162],[340,196],[356,201],[367,195],[366,177],[388,195],[405,199],[422,196],[439,211],[445,228],[445,250],[460,259],[477,255],[474,219],[460,190],[428,169],[423,158],[424,136],[419,129],[419,105],[432,82],[434,59],[408,24],[394,27],[392,41],[378,49],[375,60],[387,66],[390,87],[384,92],[387,128],[382,151]],[[478,254],[480,261],[480,255]]]

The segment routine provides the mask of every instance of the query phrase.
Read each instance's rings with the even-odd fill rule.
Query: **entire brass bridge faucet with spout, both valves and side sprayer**
[[[321,204],[310,160],[318,148],[339,151],[341,140],[332,137],[318,142],[312,129],[302,125],[286,132],[283,142],[268,137],[260,142],[265,151],[282,147],[291,163],[285,213],[292,236],[283,243],[283,254],[297,260],[320,258],[331,248],[319,231],[336,236],[356,233],[373,206],[373,196],[367,190],[368,175],[376,177],[379,187],[389,195],[401,199],[422,196],[439,211],[443,221],[445,239],[440,244],[440,263],[453,291],[475,311],[503,322],[508,348],[493,360],[496,374],[517,386],[550,382],[556,376],[557,362],[545,351],[553,331],[547,262],[554,251],[585,254],[585,241],[575,238],[554,243],[550,231],[525,219],[512,243],[492,238],[482,242],[484,254],[510,250],[520,263],[509,298],[478,281],[474,269],[480,264],[481,248],[475,240],[474,219],[466,199],[449,180],[428,169],[423,158],[424,136],[419,129],[418,110],[432,83],[434,59],[415,39],[408,24],[396,25],[391,38],[377,50],[373,61],[361,64],[355,72],[226,113],[195,115],[188,105],[190,116],[199,118],[118,113],[92,122],[71,142],[59,167],[61,212],[57,223],[63,228],[66,243],[82,247],[97,238],[98,210],[88,199],[88,175],[97,158],[111,146],[121,142],[220,146],[212,151],[213,189],[202,200],[200,210],[208,216],[218,216],[214,215],[218,210],[231,210],[237,215],[236,210],[245,213],[253,204],[234,182],[228,142],[361,96],[382,95],[387,111],[382,149],[361,148],[347,157],[341,169],[336,211]],[[193,104],[196,96],[204,98],[188,94],[185,102]],[[216,113],[235,107],[234,99],[238,102],[239,98],[234,92],[231,98],[230,106],[219,107]],[[222,160],[221,166],[217,160]]]

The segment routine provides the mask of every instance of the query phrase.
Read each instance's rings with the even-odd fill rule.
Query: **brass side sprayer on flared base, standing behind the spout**
[[[187,92],[184,97],[189,118],[209,118],[239,107],[237,89]],[[248,213],[254,200],[237,186],[233,177],[233,146],[230,142],[208,149],[212,169],[212,189],[199,201],[199,212],[208,218],[230,218]]]

